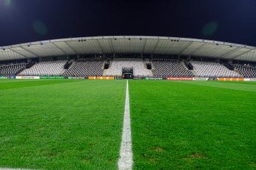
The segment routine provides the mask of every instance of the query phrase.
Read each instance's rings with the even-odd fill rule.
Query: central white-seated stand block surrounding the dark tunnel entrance
[[[123,67],[133,67],[134,76],[149,76],[149,71],[143,59],[113,59],[111,67],[107,69],[107,76],[122,76]]]

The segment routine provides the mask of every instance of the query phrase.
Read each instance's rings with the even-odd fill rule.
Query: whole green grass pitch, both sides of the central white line
[[[0,168],[118,169],[126,80],[1,80]],[[129,80],[133,169],[256,169],[256,82]]]

